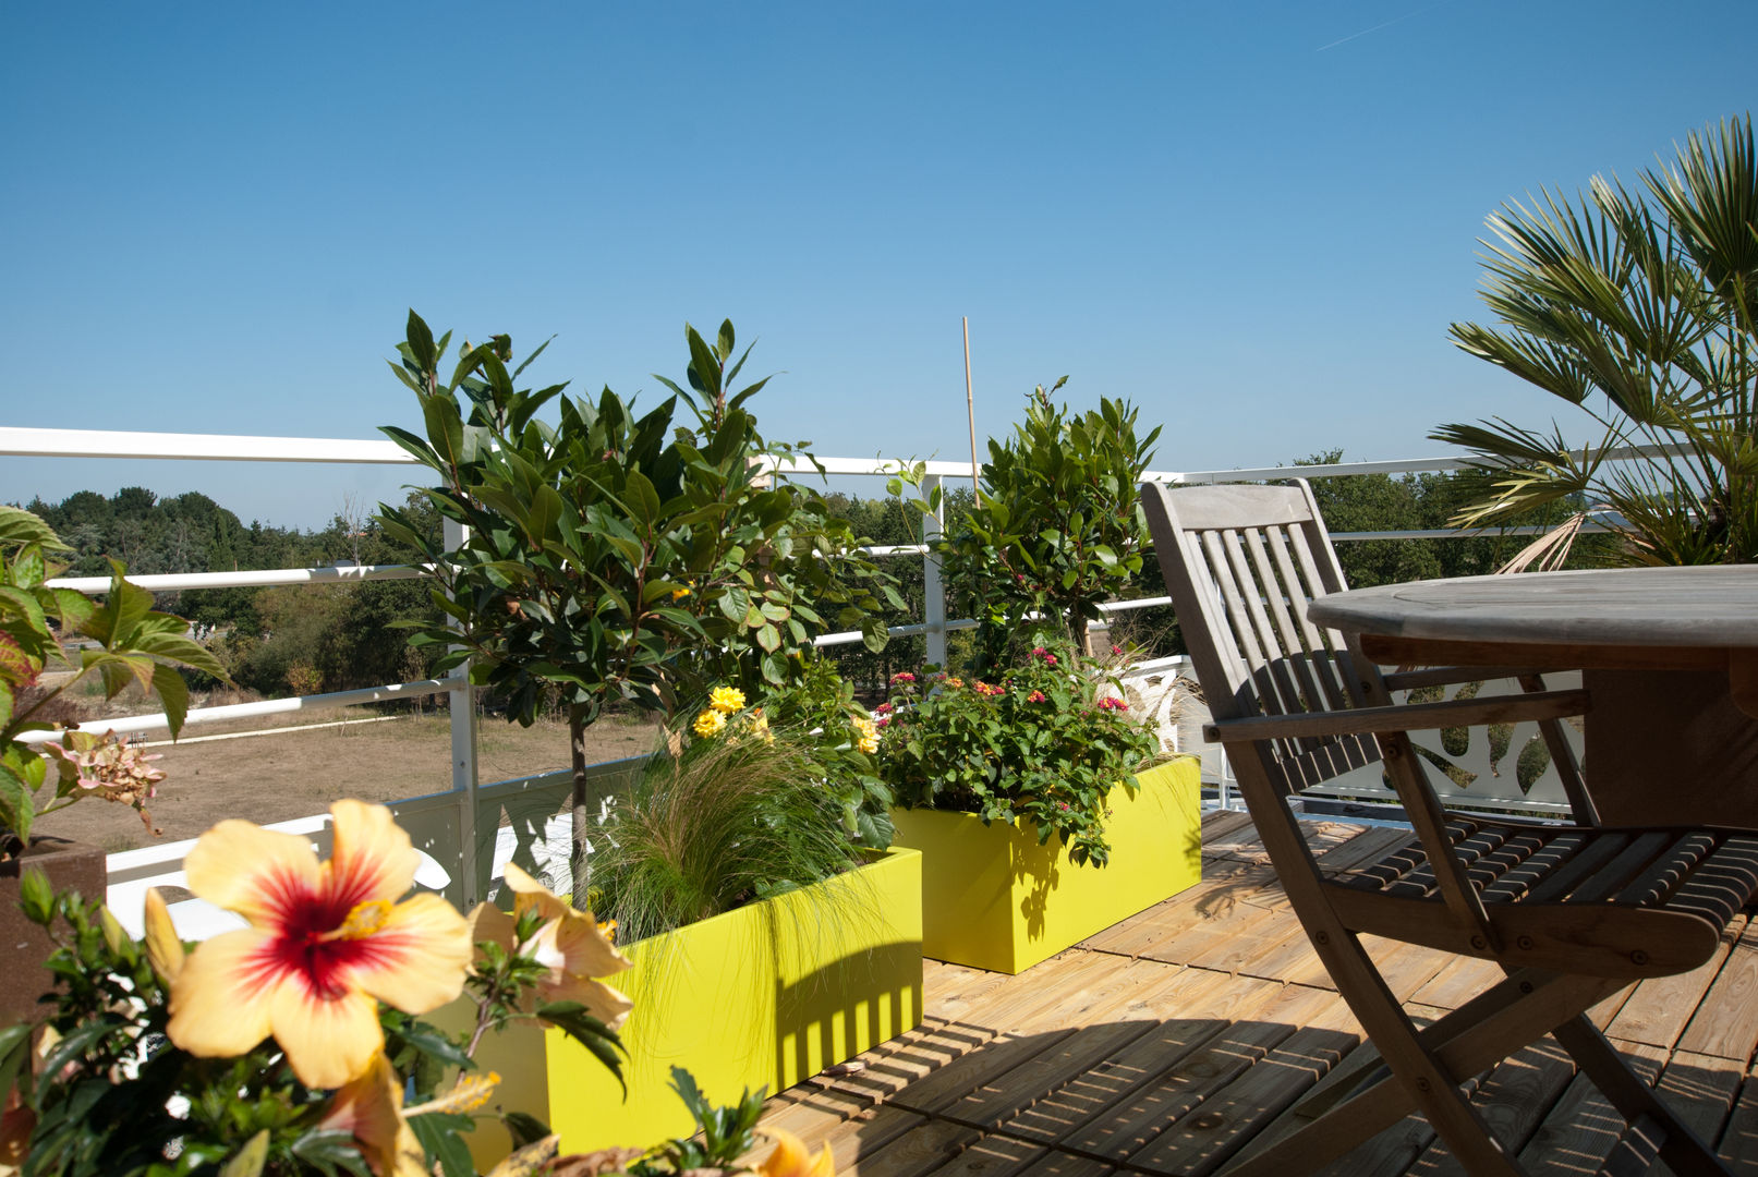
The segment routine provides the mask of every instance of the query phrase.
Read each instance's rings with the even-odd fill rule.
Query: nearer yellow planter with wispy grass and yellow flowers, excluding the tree
[[[564,1147],[687,1131],[677,1066],[733,1101],[921,1022],[921,859],[851,838],[826,787],[825,761],[860,740],[853,722],[775,727],[766,706],[721,687],[614,799],[592,833],[592,908],[633,961],[617,986],[638,1015],[622,1029],[626,1100],[548,1035],[531,1110]]]

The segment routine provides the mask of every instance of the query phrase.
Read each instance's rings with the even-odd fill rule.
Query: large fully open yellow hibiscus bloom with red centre
[[[339,1087],[383,1051],[380,1001],[425,1014],[462,991],[464,917],[436,894],[403,899],[420,856],[390,810],[338,801],[331,815],[327,863],[304,836],[243,820],[185,859],[190,891],[250,921],[197,945],[171,982],[165,1033],[190,1054],[232,1058],[274,1035],[299,1082]]]

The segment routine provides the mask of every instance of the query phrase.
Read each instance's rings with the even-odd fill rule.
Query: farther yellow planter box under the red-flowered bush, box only
[[[1157,764],[1108,799],[1108,866],[1076,866],[1062,838],[951,810],[891,810],[895,845],[921,850],[921,950],[1018,973],[1202,878],[1195,759]]]

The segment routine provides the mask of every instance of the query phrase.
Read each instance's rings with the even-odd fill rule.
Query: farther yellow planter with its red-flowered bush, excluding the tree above
[[[926,956],[1018,973],[1201,878],[1197,766],[1143,768],[1157,740],[1095,661],[905,671],[877,710],[897,843],[935,898]]]

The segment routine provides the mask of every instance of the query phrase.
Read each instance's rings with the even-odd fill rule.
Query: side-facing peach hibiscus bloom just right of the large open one
[[[610,943],[605,926],[591,912],[577,912],[573,905],[552,896],[543,884],[512,863],[506,864],[506,885],[513,892],[513,913],[508,915],[492,903],[478,903],[469,913],[471,943],[492,940],[543,964],[548,971],[536,984],[540,1001],[578,1001],[612,1029],[626,1022],[633,1003],[594,980],[629,966],[629,957]],[[519,917],[533,908],[543,917],[543,924],[524,943],[513,943]]]

